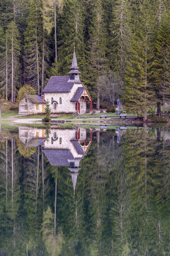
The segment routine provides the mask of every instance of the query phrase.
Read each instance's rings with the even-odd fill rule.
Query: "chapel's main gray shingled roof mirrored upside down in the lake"
[[[69,166],[68,160],[74,160],[72,153],[66,149],[42,149],[51,165]]]

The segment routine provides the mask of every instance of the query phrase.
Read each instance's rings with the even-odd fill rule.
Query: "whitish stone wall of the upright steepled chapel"
[[[75,94],[77,88],[82,86],[83,85],[81,83],[74,84],[70,92],[44,92],[44,100],[49,101],[52,113],[73,113],[76,110],[76,102],[70,100]],[[52,98],[54,101],[58,102],[56,110],[54,109],[54,103],[51,104]],[[62,101],[61,104],[60,98]],[[86,102],[80,102],[80,113],[86,113]]]

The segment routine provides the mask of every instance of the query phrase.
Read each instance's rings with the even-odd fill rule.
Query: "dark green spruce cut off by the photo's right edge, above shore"
[[[165,13],[161,19],[153,46],[153,63],[151,66],[151,83],[156,92],[158,106],[170,98],[170,20]],[[158,108],[159,110],[159,108]],[[160,110],[159,110],[160,111]],[[158,111],[158,112],[159,112]]]

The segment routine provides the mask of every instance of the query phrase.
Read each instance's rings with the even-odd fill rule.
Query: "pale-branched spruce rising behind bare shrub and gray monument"
[[[112,22],[110,24],[111,49],[109,63],[124,80],[129,59],[131,24],[130,6],[127,0],[116,0],[112,7]]]

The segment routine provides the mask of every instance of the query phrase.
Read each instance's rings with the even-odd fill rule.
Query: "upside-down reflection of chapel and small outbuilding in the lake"
[[[86,129],[51,128],[49,138],[46,139],[45,129],[19,127],[19,138],[27,147],[41,146],[52,166],[69,167],[75,191],[79,163],[92,143],[92,136],[86,140]]]

